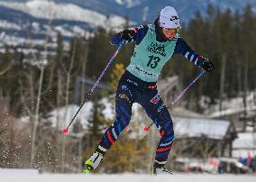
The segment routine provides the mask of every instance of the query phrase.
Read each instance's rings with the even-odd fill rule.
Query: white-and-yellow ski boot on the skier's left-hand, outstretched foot
[[[93,153],[93,155],[90,157],[90,159],[87,159],[83,173],[90,173],[92,170],[96,169],[104,155],[105,151],[99,150],[98,148],[96,152]]]

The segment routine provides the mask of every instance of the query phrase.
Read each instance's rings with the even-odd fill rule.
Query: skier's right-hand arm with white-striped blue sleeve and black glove
[[[181,38],[178,38],[177,44],[174,50],[174,54],[181,54],[189,61],[197,65],[198,68],[203,68],[206,71],[211,71],[214,69],[214,64],[209,59],[204,58],[199,55],[196,51],[192,50],[187,42]]]

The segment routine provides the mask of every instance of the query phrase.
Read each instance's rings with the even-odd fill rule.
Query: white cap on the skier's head
[[[171,6],[166,6],[160,11],[160,27],[176,29],[180,27],[176,10]]]

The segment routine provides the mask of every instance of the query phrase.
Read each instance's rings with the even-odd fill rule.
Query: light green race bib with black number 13
[[[148,26],[147,34],[135,46],[130,65],[126,69],[143,81],[156,82],[161,69],[171,58],[177,41],[157,41],[155,27],[151,24]]]

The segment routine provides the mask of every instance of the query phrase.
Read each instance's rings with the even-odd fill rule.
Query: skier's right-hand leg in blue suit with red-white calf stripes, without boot
[[[150,99],[144,98],[143,100],[142,106],[160,131],[160,142],[156,150],[154,165],[160,164],[160,167],[163,167],[173,145],[173,123],[168,108],[164,105],[157,91],[151,95]]]

